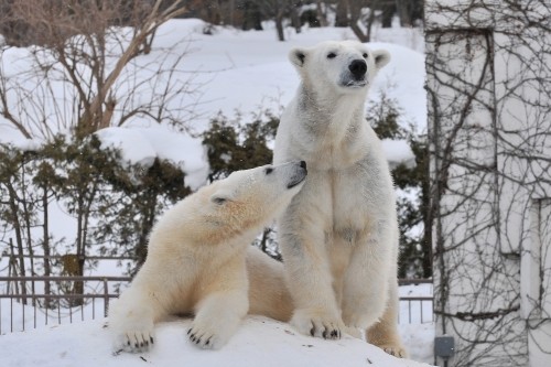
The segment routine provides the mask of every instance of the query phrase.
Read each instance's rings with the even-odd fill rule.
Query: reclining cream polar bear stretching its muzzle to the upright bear
[[[169,209],[153,227],[145,262],[109,311],[116,350],[147,350],[155,322],[188,313],[192,343],[222,347],[249,309],[247,247],[305,176],[303,161],[238,171]]]

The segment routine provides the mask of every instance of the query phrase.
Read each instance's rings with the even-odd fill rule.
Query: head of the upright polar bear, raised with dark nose
[[[390,61],[385,50],[370,51],[357,41],[327,41],[292,48],[289,58],[311,90],[366,91],[377,72]]]

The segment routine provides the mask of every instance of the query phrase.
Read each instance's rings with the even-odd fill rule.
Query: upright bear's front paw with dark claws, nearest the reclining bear
[[[324,339],[339,339],[344,327],[338,317],[307,310],[295,311],[291,319],[291,325],[304,335],[323,337]]]

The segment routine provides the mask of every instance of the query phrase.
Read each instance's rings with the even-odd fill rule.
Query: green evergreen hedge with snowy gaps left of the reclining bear
[[[158,215],[188,193],[179,166],[161,160],[149,168],[126,164],[94,134],[84,140],[55,137],[33,152],[0,147],[1,229],[17,237],[19,253],[31,255],[40,246],[44,253],[76,256],[77,274],[95,265],[86,260],[89,255],[130,256],[141,265]],[[76,238],[66,249],[50,234],[54,202],[75,219]],[[4,237],[0,245],[8,245]],[[62,266],[46,262],[47,272],[50,265]],[[136,267],[128,270],[133,273]]]

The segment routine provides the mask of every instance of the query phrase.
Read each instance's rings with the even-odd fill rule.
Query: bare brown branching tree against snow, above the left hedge
[[[155,85],[155,76],[148,72],[149,63],[137,61],[151,52],[159,26],[185,11],[179,7],[180,0],[170,6],[163,3],[161,0],[4,3],[9,11],[0,18],[0,28],[13,31],[8,33],[8,44],[0,48],[3,62],[21,58],[11,43],[35,46],[28,48],[29,67],[21,73],[9,73],[0,65],[0,115],[25,138],[52,138],[67,130],[84,138],[105,127],[120,126],[134,116],[156,122],[181,121],[185,107],[165,107],[176,95],[192,93],[188,83],[174,78],[185,52],[175,57],[173,50],[165,53],[163,67],[156,73],[156,77],[169,79],[162,87]],[[122,31],[114,24],[131,28]],[[24,32],[19,31],[21,28]],[[133,69],[127,73],[128,68]],[[148,77],[137,77],[140,71]],[[120,88],[121,85],[130,88]],[[145,88],[153,90],[152,98],[139,102],[136,94]]]

